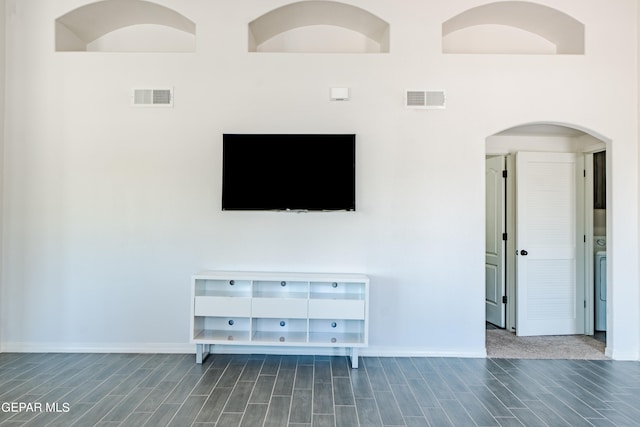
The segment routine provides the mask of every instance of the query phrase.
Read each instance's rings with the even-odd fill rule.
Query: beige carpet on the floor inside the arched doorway
[[[487,329],[487,357],[503,359],[606,360],[605,344],[585,335],[517,337],[504,329]]]

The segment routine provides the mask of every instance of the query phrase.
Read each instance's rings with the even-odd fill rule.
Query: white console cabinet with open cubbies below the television
[[[203,271],[191,278],[191,343],[345,347],[368,344],[369,278],[360,274]]]

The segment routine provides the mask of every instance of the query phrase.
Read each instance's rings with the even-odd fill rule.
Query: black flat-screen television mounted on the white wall
[[[222,209],[354,211],[353,134],[224,134]]]

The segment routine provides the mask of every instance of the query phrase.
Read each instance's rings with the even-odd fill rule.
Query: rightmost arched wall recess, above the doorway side
[[[502,1],[466,10],[444,22],[442,51],[582,55],[584,33],[583,23],[557,9],[526,1]],[[514,37],[519,46],[513,44]],[[507,38],[511,43],[502,44],[500,40]]]

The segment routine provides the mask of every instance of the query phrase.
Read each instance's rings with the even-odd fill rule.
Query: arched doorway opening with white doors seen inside
[[[491,324],[496,324],[497,327],[514,333],[520,332],[522,335],[593,335],[596,332],[595,310],[598,305],[598,295],[596,295],[595,289],[596,265],[594,255],[596,252],[606,250],[606,243],[604,247],[601,247],[598,246],[597,242],[606,242],[607,215],[606,207],[601,204],[594,208],[594,198],[600,197],[600,195],[594,193],[594,172],[596,172],[594,170],[594,154],[606,153],[606,143],[607,140],[605,138],[588,130],[559,123],[524,124],[486,138],[485,153],[487,159],[491,159],[491,162],[493,162],[491,168],[494,169],[489,172],[490,167],[487,166],[485,305],[487,307],[487,321]],[[522,224],[522,219],[520,224],[518,221],[518,203],[520,203],[520,210],[523,210],[523,206],[528,206],[529,208],[535,206],[535,199],[531,199],[528,202],[530,203],[529,205],[522,204],[523,199],[527,196],[524,193],[518,194],[518,185],[516,185],[516,158],[528,156],[525,153],[533,153],[532,155],[537,158],[543,153],[548,153],[545,154],[548,158],[564,156],[565,159],[575,159],[570,168],[572,168],[572,171],[575,170],[579,173],[580,176],[576,174],[575,177],[572,177],[572,179],[575,178],[572,182],[575,182],[576,188],[570,197],[575,197],[576,200],[575,217],[577,222],[574,221],[571,225],[562,225],[573,227],[571,232],[575,233],[575,235],[572,235],[572,238],[575,238],[575,256],[573,259],[562,261],[567,266],[574,263],[572,264],[575,267],[573,271],[565,269],[567,277],[573,274],[573,279],[575,279],[574,288],[570,288],[567,285],[563,290],[562,286],[564,285],[554,283],[554,280],[564,274],[562,272],[562,263],[553,264],[548,260],[533,264],[534,267],[529,270],[536,273],[535,276],[539,279],[539,282],[534,283],[533,287],[525,287],[527,286],[527,277],[523,276],[522,272],[527,270],[527,267],[526,263],[523,264],[522,262],[535,258],[529,255],[527,248],[518,247],[517,241],[518,232],[522,231],[525,226]],[[495,170],[495,165],[499,165],[501,162],[505,170],[504,179],[502,173],[498,174]],[[549,171],[558,169],[549,165],[544,165],[543,168],[545,169],[540,170],[546,171],[545,173],[547,174],[550,173]],[[550,181],[550,177],[545,175],[543,178],[548,181],[550,188],[555,190],[555,184]],[[520,182],[523,181],[525,179],[521,177]],[[603,180],[599,179],[598,181],[602,183]],[[535,186],[535,180],[530,185]],[[500,186],[503,187],[501,188]],[[502,191],[502,195],[500,191]],[[561,200],[568,198],[564,196],[558,197]],[[501,209],[500,205],[495,205],[491,208],[495,202],[502,202],[504,210],[500,212],[501,215],[494,217],[491,214],[491,209]],[[534,203],[534,205],[531,205],[531,203]],[[537,211],[536,213],[541,214]],[[547,221],[547,223],[544,221]],[[545,224],[554,224],[554,230],[557,233],[560,224],[554,223],[554,221],[553,217],[549,217],[543,218],[534,224],[534,229],[538,227],[536,230],[537,236],[542,236],[541,233],[545,231]],[[559,218],[558,221],[563,222],[564,218]],[[543,225],[542,228],[540,228],[541,224]],[[551,232],[551,230],[547,231]],[[525,240],[522,237],[523,235],[521,232],[520,243]],[[541,252],[539,250],[540,246],[538,245],[535,252],[536,255]],[[521,252],[523,249],[525,249],[524,252]],[[523,257],[523,254],[528,258]],[[490,255],[494,258],[499,258],[500,262],[493,262]],[[518,263],[520,263],[520,270],[518,270]],[[560,270],[554,271],[554,268],[556,268],[554,265],[560,265]],[[606,261],[604,266],[606,266]],[[606,277],[606,274],[604,277]],[[571,292],[570,295],[569,292]],[[524,299],[532,294],[535,294],[534,298]],[[600,295],[606,295],[606,291],[600,292]],[[565,299],[564,301],[562,301],[563,298]],[[530,325],[525,324],[525,322],[529,321],[527,320],[528,317],[526,317],[529,315],[526,313],[527,307],[534,307],[535,312],[531,316],[532,318],[537,317],[538,320],[541,320],[540,324],[544,324],[546,317],[548,318],[547,324],[555,327],[556,324],[564,321],[564,319],[561,319],[563,314],[556,311],[563,309],[563,303],[567,312],[574,310],[572,314],[576,316],[576,319],[574,319],[575,325],[573,325],[575,329],[545,329],[544,326],[530,328]],[[569,303],[572,305],[570,306]],[[611,304],[609,301],[604,301],[604,303],[600,302],[600,306],[601,308],[602,306],[611,307]],[[518,310],[518,307],[520,307],[520,310]],[[602,314],[600,313],[600,315]],[[560,320],[554,319],[554,316],[557,316]],[[599,329],[603,329],[602,325],[599,325]],[[604,330],[606,330],[606,327]],[[600,335],[604,336],[604,331]]]

